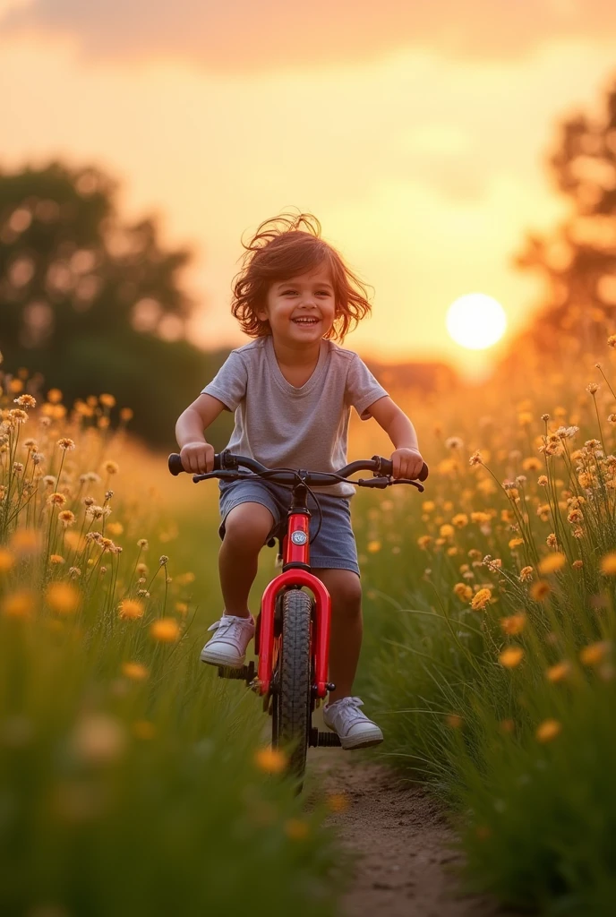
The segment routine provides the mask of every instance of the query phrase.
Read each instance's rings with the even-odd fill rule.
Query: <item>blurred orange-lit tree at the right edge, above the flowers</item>
[[[544,278],[547,291],[545,308],[523,342],[545,354],[565,339],[569,351],[593,351],[614,331],[616,81],[599,116],[578,114],[564,121],[549,163],[570,211],[551,235],[529,235],[516,259],[519,267]]]

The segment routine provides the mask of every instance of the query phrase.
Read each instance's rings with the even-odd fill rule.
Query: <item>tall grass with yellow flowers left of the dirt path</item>
[[[215,564],[187,569],[113,398],[0,383],[0,912],[332,914],[324,812],[199,663]]]

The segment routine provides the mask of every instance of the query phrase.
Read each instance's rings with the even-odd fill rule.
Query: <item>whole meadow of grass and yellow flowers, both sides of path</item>
[[[469,883],[545,913],[607,914],[616,892],[605,350],[602,370],[392,392],[431,476],[354,504],[357,692],[383,759],[446,801]],[[303,809],[259,702],[198,662],[220,611],[215,485],[171,479],[127,414],[112,430],[110,395],[27,392],[9,381],[2,405],[0,911],[233,913],[249,895],[335,913],[327,801]],[[351,457],[375,452],[386,437],[355,423]]]

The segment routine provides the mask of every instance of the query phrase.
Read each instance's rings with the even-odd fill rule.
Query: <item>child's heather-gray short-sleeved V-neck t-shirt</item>
[[[325,339],[312,376],[296,388],[282,375],[271,335],[232,350],[203,393],[235,411],[231,452],[268,468],[330,472],[347,464],[351,407],[369,420],[370,404],[388,394],[357,353]],[[314,490],[355,493],[343,483]]]

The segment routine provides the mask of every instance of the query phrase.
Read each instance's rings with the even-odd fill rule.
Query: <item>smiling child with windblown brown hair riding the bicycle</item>
[[[214,380],[176,425],[184,470],[214,466],[203,431],[221,411],[235,412],[227,448],[268,468],[335,471],[347,464],[351,406],[374,417],[394,446],[394,478],[416,478],[423,465],[413,424],[342,341],[370,306],[366,290],[340,255],[321,238],[313,215],[281,215],[259,226],[245,246],[234,285],[233,315],[255,339],[233,350]],[[330,679],[336,691],[325,724],[343,748],[377,745],[383,735],[359,710],[351,689],[362,636],[358,555],[351,528],[351,484],[315,487],[323,513],[311,544],[314,575],[332,597]],[[255,622],[247,608],[260,548],[284,525],[288,488],[270,481],[220,481],[220,584],[225,611],[209,630],[203,662],[241,667]],[[310,503],[308,504],[310,508]],[[311,519],[314,536],[318,513]]]

